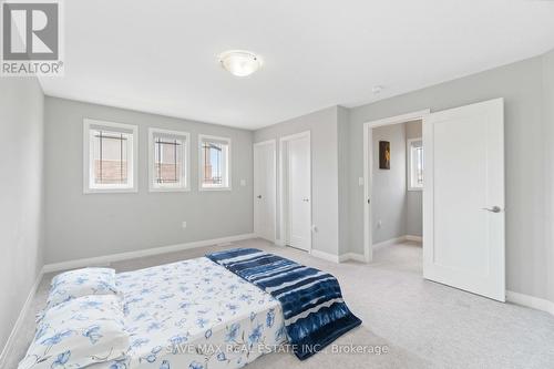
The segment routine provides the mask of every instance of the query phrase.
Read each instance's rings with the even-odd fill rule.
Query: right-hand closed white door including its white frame
[[[281,137],[280,235],[286,246],[311,250],[310,132]]]

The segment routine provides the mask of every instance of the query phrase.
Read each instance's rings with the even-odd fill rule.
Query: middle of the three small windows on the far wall
[[[150,191],[188,191],[188,145],[186,132],[148,130]]]

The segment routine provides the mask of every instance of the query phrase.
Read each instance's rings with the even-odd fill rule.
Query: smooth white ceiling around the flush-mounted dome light
[[[257,129],[554,48],[554,1],[64,1],[65,76],[48,95]],[[217,54],[247,49],[246,79]],[[373,85],[383,85],[373,94]]]

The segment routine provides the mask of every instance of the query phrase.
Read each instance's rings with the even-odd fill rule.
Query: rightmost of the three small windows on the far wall
[[[230,139],[198,135],[199,188],[230,189]]]

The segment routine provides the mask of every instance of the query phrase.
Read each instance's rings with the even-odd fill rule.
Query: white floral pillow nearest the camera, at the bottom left
[[[84,368],[125,357],[129,345],[116,296],[79,297],[44,314],[18,369]]]

